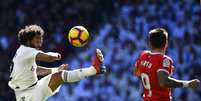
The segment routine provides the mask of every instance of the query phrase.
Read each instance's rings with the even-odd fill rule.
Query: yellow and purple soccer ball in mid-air
[[[74,26],[68,33],[68,40],[75,47],[83,47],[89,40],[89,32],[83,26]]]

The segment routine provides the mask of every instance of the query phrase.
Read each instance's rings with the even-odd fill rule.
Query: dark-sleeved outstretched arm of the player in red
[[[157,73],[159,85],[161,87],[169,87],[169,88],[179,88],[179,87],[189,87],[189,88],[197,88],[200,84],[198,79],[193,79],[190,81],[176,80],[171,78],[168,73],[164,71],[159,71]]]

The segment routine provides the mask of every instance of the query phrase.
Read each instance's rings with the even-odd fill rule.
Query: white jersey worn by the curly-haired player
[[[10,67],[11,80],[8,85],[12,89],[24,90],[38,81],[35,58],[39,52],[42,51],[24,45],[17,49]]]

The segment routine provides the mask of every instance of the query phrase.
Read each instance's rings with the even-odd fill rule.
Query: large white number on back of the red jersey
[[[143,83],[144,88],[149,91],[148,96],[151,97],[152,91],[151,91],[149,76],[146,73],[141,73],[141,79],[142,79],[142,83]]]

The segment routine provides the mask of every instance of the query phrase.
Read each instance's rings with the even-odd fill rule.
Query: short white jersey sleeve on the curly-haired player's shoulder
[[[23,57],[24,57],[24,59],[34,59],[35,60],[36,55],[40,52],[42,53],[41,50],[27,47],[23,52]]]

